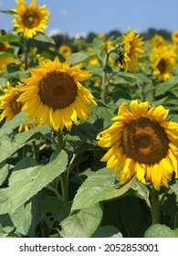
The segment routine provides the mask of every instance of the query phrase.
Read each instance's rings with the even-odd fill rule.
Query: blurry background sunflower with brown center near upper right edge
[[[176,52],[172,45],[167,44],[153,48],[150,60],[156,80],[168,80],[173,77],[173,69],[176,67]]]

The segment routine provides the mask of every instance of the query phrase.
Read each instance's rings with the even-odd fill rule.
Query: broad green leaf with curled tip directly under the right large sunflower
[[[114,184],[116,176],[113,170],[101,169],[90,175],[79,187],[74,197],[72,210],[89,208],[100,201],[120,197],[131,187],[135,177],[124,186]]]

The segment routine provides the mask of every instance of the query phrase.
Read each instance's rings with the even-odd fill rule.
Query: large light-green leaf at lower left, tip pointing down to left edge
[[[0,214],[13,212],[62,174],[68,165],[65,151],[56,152],[45,166],[16,170],[9,178],[8,199],[4,200]]]

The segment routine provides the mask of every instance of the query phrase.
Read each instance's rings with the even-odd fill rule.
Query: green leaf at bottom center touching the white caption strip
[[[61,222],[60,235],[63,238],[89,238],[98,228],[102,218],[99,205],[79,210]]]

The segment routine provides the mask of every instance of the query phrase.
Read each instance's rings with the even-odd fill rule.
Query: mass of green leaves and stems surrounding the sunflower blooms
[[[92,33],[87,39],[51,38],[43,33],[29,40],[16,33],[0,37],[0,43],[11,46],[0,58],[13,58],[1,73],[3,90],[7,81],[17,87],[19,80],[29,76],[28,68],[38,67],[40,58],[58,56],[64,62],[58,47],[68,44],[73,51],[70,65],[82,63],[92,74],[84,85],[98,103],[91,107],[88,123],[79,121],[62,134],[47,124],[18,133],[19,125],[33,123],[24,112],[8,123],[1,120],[0,237],[178,237],[178,181],[162,187],[162,225],[152,225],[150,188],[135,176],[120,185],[113,169],[100,162],[106,150],[96,140],[112,124],[122,101],[162,104],[170,109],[169,118],[178,122],[178,69],[173,69],[169,80],[155,79],[149,59],[152,37],[145,37],[141,66],[132,73],[122,65],[120,31],[110,32],[105,40]]]

